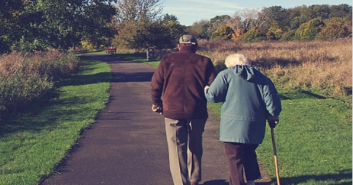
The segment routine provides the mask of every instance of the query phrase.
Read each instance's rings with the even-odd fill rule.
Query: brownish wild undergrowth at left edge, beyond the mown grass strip
[[[76,72],[78,58],[57,50],[0,57],[0,119],[42,97],[55,80]]]

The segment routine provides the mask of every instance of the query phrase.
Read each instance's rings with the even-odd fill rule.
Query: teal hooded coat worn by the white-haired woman
[[[224,142],[262,143],[267,117],[279,116],[282,110],[272,81],[252,66],[221,71],[205,90],[205,97],[222,102],[220,140]]]

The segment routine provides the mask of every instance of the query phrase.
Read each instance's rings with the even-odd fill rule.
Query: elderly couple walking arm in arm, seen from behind
[[[183,35],[178,52],[162,57],[151,80],[152,111],[164,116],[174,185],[201,181],[202,134],[207,101],[222,102],[220,141],[228,160],[229,185],[255,185],[261,178],[256,148],[266,120],[274,128],[281,100],[273,83],[242,54],[229,55],[216,74],[208,57],[196,54],[197,39]]]

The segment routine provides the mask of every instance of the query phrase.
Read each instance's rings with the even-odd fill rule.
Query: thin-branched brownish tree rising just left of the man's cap
[[[160,5],[159,0],[119,1],[116,7],[115,43],[138,50],[174,45],[185,27],[173,15],[160,16]]]

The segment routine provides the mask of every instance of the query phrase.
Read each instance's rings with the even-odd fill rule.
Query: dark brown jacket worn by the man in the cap
[[[152,76],[152,103],[163,106],[166,118],[207,118],[204,87],[215,77],[213,63],[205,56],[184,50],[165,55]]]

